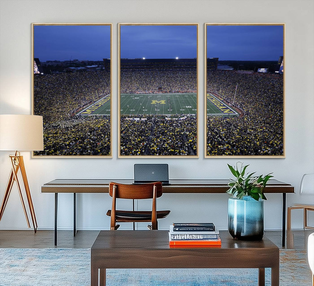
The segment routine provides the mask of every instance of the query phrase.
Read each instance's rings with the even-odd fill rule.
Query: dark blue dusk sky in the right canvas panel
[[[283,49],[283,26],[207,25],[207,57],[278,61]]]

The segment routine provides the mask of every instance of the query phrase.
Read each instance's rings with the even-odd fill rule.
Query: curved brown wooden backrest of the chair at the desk
[[[112,197],[113,186],[116,186],[116,198],[120,199],[152,199],[154,195],[154,186],[156,187],[156,197],[162,196],[161,182],[148,184],[120,184],[115,182],[109,183],[109,195]]]

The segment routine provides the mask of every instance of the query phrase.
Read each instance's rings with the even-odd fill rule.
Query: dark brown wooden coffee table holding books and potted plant
[[[101,230],[91,248],[90,284],[106,285],[107,268],[258,268],[264,286],[271,268],[271,285],[279,286],[279,248],[270,240],[234,240],[227,231],[220,237],[221,248],[170,248],[166,230]]]

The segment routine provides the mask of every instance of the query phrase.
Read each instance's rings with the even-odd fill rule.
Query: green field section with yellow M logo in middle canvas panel
[[[121,114],[196,114],[196,93],[121,94]]]

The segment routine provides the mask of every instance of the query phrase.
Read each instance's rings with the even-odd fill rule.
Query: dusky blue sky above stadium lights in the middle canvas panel
[[[121,25],[121,58],[195,58],[197,27]]]

